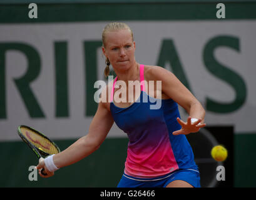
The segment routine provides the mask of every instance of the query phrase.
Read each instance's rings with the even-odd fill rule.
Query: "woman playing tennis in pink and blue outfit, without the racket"
[[[96,151],[115,121],[129,138],[125,169],[118,187],[200,187],[198,166],[185,136],[206,125],[203,123],[205,110],[200,102],[170,71],[136,62],[135,41],[128,25],[107,24],[102,41],[105,75],[108,76],[110,64],[116,73],[115,80],[101,93],[102,99],[110,101],[98,104],[86,136],[61,153],[39,160],[37,168],[44,168],[48,174],[43,176],[39,170],[40,176],[53,176],[57,169]],[[127,91],[123,98],[126,101],[117,101],[123,94],[116,93],[120,89],[115,87],[118,81],[123,81],[125,88],[129,88],[129,81],[139,81],[139,93]],[[156,84],[148,87],[149,81],[161,81],[161,88]],[[160,98],[156,98],[159,97],[156,94],[160,94]],[[128,101],[129,98],[133,101]],[[160,101],[160,108],[151,109],[152,99]],[[178,104],[189,114],[186,121],[180,119]]]

